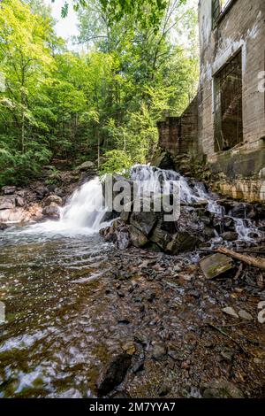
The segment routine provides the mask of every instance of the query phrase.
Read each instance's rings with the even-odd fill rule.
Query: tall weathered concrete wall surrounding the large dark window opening
[[[220,190],[237,196],[237,189],[244,189],[238,197],[259,200],[264,196],[265,186],[261,180],[261,170],[265,167],[265,94],[258,89],[259,73],[265,71],[265,1],[234,0],[213,29],[211,0],[201,0],[199,25],[199,149],[207,155],[214,173],[224,173]],[[233,150],[215,152],[214,77],[239,50],[242,52],[243,143]]]

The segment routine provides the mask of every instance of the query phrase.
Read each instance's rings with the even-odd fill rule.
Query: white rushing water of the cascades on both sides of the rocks
[[[193,204],[200,201],[208,201],[207,209],[222,217],[223,207],[216,199],[218,198],[205,188],[202,183],[192,182],[174,171],[162,170],[152,166],[136,165],[131,169],[131,179],[137,181],[139,191],[144,194],[170,193],[172,181],[177,181],[180,189],[180,200],[182,203]],[[99,178],[88,181],[79,189],[75,190],[64,208],[61,208],[60,220],[48,220],[35,224],[25,229],[30,234],[54,234],[54,235],[77,235],[95,234],[102,227],[110,223],[102,222],[106,213],[103,207],[102,183]],[[181,213],[180,213],[181,214]],[[251,221],[234,219],[239,240],[250,241],[250,233],[255,232]],[[217,236],[217,235],[216,235]]]

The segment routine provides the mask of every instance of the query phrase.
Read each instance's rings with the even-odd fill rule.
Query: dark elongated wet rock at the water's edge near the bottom
[[[124,381],[131,363],[132,356],[125,352],[110,360],[110,363],[103,368],[102,374],[96,382],[96,389],[99,396],[107,395],[118,384]]]

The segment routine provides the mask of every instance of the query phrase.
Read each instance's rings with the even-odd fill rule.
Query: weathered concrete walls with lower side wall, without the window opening
[[[265,202],[265,1],[232,0],[212,26],[211,0],[199,1],[201,75],[198,96],[180,118],[158,123],[160,146],[174,157],[206,160],[219,192]],[[242,57],[243,140],[216,151],[216,75],[237,54]],[[232,137],[231,137],[232,139]],[[232,142],[232,140],[231,140]]]

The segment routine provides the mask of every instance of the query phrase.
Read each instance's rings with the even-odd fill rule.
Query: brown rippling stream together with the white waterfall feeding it
[[[149,189],[159,180],[157,172],[166,180],[178,175],[138,167],[132,177],[144,177]],[[182,200],[208,196],[209,209],[220,209],[201,186],[191,189],[179,175],[178,180]],[[95,397],[102,365],[128,335],[126,320],[117,326],[120,312],[108,296],[118,254],[98,234],[104,226],[105,212],[96,210],[101,204],[95,179],[73,194],[61,220],[0,234],[0,299],[6,308],[0,397]],[[242,220],[238,228],[242,239],[253,231]]]

